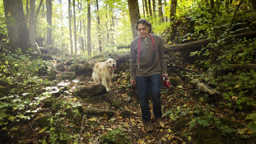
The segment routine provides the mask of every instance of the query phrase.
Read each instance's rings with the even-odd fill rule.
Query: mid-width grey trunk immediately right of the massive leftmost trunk
[[[35,0],[29,1],[29,41],[33,51],[37,51],[36,46],[36,26],[35,26]]]

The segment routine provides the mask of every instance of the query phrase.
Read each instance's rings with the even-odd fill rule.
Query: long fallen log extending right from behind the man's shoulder
[[[225,41],[229,41],[234,39],[242,39],[242,38],[255,38],[256,37],[256,31],[254,32],[247,32],[247,33],[240,33],[231,35],[228,38],[226,38]],[[202,47],[206,47],[211,42],[210,39],[202,39],[198,41],[188,42],[184,44],[177,44],[177,45],[166,45],[164,47],[164,53],[168,53],[168,51],[184,51],[184,50],[200,50]],[[214,41],[216,42],[216,41]]]

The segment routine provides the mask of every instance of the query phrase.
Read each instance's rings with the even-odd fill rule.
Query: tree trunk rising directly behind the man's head
[[[139,36],[135,30],[135,24],[137,20],[140,19],[139,4],[137,0],[128,0],[128,8],[130,14],[131,28],[132,28],[132,37],[136,38]]]

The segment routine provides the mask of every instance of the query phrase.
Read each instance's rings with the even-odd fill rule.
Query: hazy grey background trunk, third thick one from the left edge
[[[52,0],[48,0],[46,19],[48,23],[46,44],[51,47],[52,46]]]

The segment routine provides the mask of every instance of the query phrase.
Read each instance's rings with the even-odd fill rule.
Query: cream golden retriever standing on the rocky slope
[[[110,83],[113,72],[115,70],[116,61],[109,58],[105,62],[98,62],[94,65],[92,79],[98,84],[102,84],[106,87],[106,90],[110,90]]]

